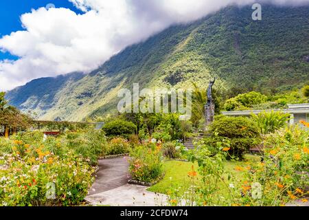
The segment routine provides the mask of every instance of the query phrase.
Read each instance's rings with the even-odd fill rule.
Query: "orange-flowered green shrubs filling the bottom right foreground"
[[[267,146],[260,162],[248,161],[234,172],[225,168],[230,145],[218,142],[218,153],[207,147],[188,153],[198,162],[201,180],[196,171],[188,175],[192,186],[185,193],[174,193],[170,204],[190,206],[284,206],[288,201],[308,196],[309,131],[297,126],[266,136]],[[306,202],[306,199],[302,199]]]

